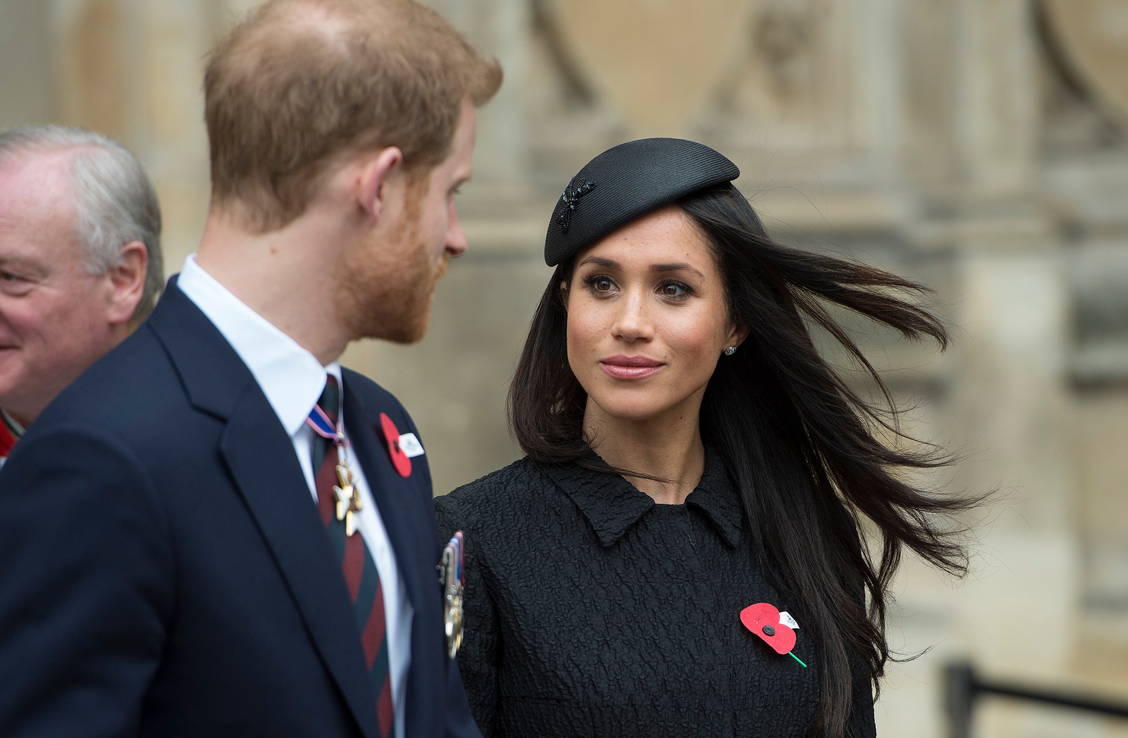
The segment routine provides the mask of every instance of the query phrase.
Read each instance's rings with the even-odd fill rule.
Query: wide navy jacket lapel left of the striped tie
[[[175,278],[150,324],[193,403],[227,419],[219,450],[236,488],[362,733],[378,738],[356,617],[290,436],[250,371]]]

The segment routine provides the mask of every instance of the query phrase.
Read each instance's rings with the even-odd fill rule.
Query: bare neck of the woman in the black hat
[[[698,408],[675,408],[646,420],[624,420],[607,415],[588,398],[583,433],[591,447],[611,466],[669,481],[640,477],[627,480],[662,505],[680,505],[705,472],[705,446]]]

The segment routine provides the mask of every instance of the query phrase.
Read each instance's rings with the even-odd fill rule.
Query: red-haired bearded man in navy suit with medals
[[[208,63],[212,202],[150,319],[0,471],[0,735],[476,738],[411,417],[501,83],[409,0],[272,0]]]

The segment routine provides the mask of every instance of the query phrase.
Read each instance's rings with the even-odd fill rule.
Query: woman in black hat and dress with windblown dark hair
[[[809,331],[884,391],[827,305],[943,347],[905,297],[925,290],[774,242],[738,175],[633,141],[557,203],[509,394],[527,455],[435,500],[465,534],[459,661],[487,737],[873,736],[904,546],[964,569],[943,518],[973,500],[911,481],[943,455],[898,443],[891,402]]]

